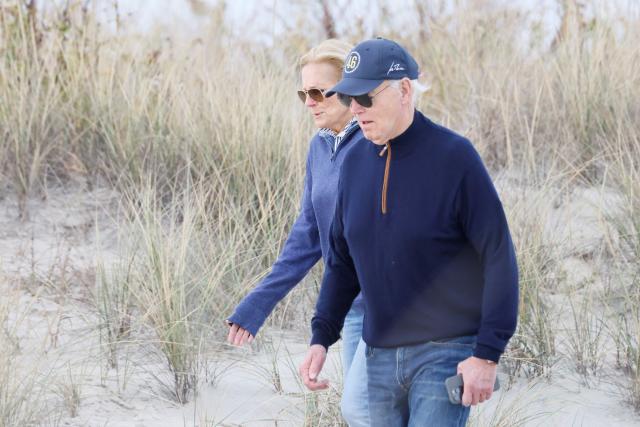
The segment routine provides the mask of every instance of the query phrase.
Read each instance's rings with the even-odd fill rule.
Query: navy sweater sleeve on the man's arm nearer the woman
[[[344,237],[342,198],[339,183],[336,211],[329,232],[329,252],[316,312],[311,319],[311,345],[321,344],[327,349],[340,338],[344,319],[360,293],[360,283]]]

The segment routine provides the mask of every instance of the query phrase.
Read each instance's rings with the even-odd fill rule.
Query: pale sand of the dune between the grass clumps
[[[508,191],[505,182],[499,186]],[[197,396],[185,405],[173,402],[163,388],[171,379],[162,355],[145,340],[149,331],[144,328],[122,350],[118,369],[108,367],[94,292],[97,265],[118,260],[118,231],[126,228],[117,215],[119,196],[80,184],[50,188],[46,194],[29,199],[26,221],[18,219],[13,196],[0,197],[0,290],[9,312],[6,329],[19,341],[12,353],[12,378],[32,384],[27,395],[44,416],[40,425],[303,424],[305,413],[311,413],[311,395],[305,397],[296,372],[306,351],[301,332],[266,328],[256,344],[243,349],[214,343]],[[625,402],[624,375],[615,368],[610,339],[601,342],[605,356],[597,375],[586,378],[576,372],[566,344],[572,327],[563,310],[568,295],[604,286],[600,264],[606,262],[609,233],[602,212],[615,200],[610,191],[582,188],[553,202],[547,231],[561,243],[562,280],[549,298],[557,309],[559,356],[542,378],[520,377],[509,385],[501,373],[501,391],[474,408],[470,425],[498,425],[506,414],[526,420],[522,425],[527,426],[640,425],[640,416]],[[339,352],[339,344],[330,350],[324,372],[337,388]],[[275,390],[274,373],[280,390]],[[334,389],[315,398],[336,410],[337,396]]]

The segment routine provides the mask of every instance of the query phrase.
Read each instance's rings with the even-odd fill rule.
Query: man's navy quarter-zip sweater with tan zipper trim
[[[369,346],[477,335],[474,355],[497,362],[516,327],[518,271],[480,156],[417,110],[389,147],[381,156],[363,140],[344,159],[311,344],[338,340],[362,290]]]

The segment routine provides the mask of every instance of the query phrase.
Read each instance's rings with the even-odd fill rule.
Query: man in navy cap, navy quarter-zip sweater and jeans
[[[365,303],[372,425],[464,425],[491,397],[516,327],[515,251],[495,188],[471,143],[415,110],[418,65],[397,43],[368,40],[327,96],[365,137],[345,158],[326,270],[300,366],[308,388],[339,338],[351,301]],[[463,405],[444,381],[464,380]]]

